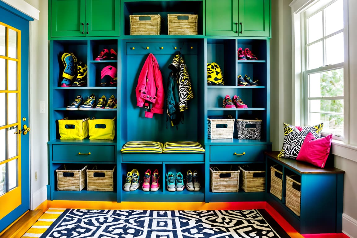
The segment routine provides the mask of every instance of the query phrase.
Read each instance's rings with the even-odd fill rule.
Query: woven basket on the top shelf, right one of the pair
[[[169,35],[197,35],[198,15],[167,14]]]

